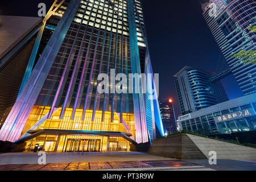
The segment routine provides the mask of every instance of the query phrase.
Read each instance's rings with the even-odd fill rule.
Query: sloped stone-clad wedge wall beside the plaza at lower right
[[[191,134],[177,134],[154,141],[148,154],[176,159],[208,159],[216,151],[217,159],[255,160],[256,149]]]

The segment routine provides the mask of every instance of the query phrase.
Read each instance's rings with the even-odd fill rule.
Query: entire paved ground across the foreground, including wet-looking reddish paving
[[[38,164],[38,153],[0,154],[0,171],[226,171],[256,170],[256,160],[179,160],[143,152],[47,153],[46,164]]]

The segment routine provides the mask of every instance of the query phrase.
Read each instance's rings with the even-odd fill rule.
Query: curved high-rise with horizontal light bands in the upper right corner
[[[209,6],[209,3],[214,3]],[[209,8],[210,7],[210,8]],[[216,11],[214,8],[216,7]],[[203,16],[243,94],[256,93],[256,64],[244,64],[234,54],[255,51],[254,0],[214,0],[202,2]]]

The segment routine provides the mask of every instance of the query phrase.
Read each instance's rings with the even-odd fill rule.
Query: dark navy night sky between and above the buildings
[[[53,0],[1,1],[0,15],[38,16],[38,4],[47,9]],[[159,73],[159,98],[172,97],[180,114],[174,75],[185,65],[213,72],[227,68],[202,16],[197,0],[142,0],[153,70]],[[233,76],[222,84],[230,99],[242,96]]]

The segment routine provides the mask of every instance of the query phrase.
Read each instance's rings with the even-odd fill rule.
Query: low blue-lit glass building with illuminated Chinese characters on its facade
[[[256,94],[178,117],[182,130],[201,135],[230,134],[256,130]]]

